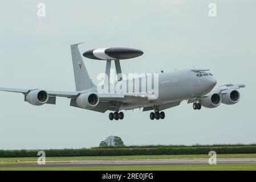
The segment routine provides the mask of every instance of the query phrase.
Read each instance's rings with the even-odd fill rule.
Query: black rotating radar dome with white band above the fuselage
[[[96,60],[123,60],[141,55],[143,55],[143,51],[139,49],[123,47],[97,48],[83,53],[84,57]]]

